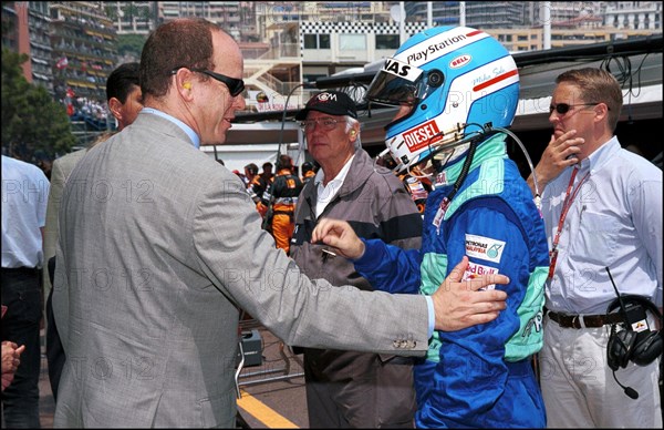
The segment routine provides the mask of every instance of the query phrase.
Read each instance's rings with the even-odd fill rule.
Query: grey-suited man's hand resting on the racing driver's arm
[[[507,294],[498,289],[478,291],[491,284],[508,284],[505,275],[484,275],[471,280],[460,279],[468,266],[468,257],[452,270],[432,296],[436,314],[436,330],[456,331],[478,324],[489,322],[506,308]]]

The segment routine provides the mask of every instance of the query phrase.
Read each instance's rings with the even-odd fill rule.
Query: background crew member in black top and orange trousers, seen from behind
[[[290,239],[293,236],[295,204],[302,191],[302,181],[293,174],[293,162],[282,154],[277,160],[277,174],[268,184],[259,206],[263,206],[266,216],[263,228],[272,234],[277,247],[289,254]],[[262,213],[261,208],[259,212]]]

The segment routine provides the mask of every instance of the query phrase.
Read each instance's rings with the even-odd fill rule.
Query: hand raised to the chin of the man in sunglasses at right
[[[579,146],[585,141],[583,137],[574,137],[575,134],[575,130],[570,130],[558,139],[556,139],[556,135],[551,135],[551,140],[544,149],[540,162],[535,167],[535,175],[537,176],[540,193],[563,170],[579,163],[579,157],[575,154],[581,152]],[[530,186],[530,191],[535,195],[536,190],[532,174],[528,177],[528,186]]]

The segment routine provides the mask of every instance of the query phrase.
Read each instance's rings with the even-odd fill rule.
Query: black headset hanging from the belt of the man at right
[[[625,295],[613,300],[606,308],[606,314],[615,309],[622,313],[650,310],[662,324],[660,309],[649,299],[642,296]],[[625,316],[626,317],[626,316]],[[662,329],[634,331],[632,325],[625,320],[624,329],[620,331],[616,324],[611,326],[611,336],[606,344],[606,359],[612,370],[619,367],[625,368],[630,360],[639,366],[647,366],[662,355]]]

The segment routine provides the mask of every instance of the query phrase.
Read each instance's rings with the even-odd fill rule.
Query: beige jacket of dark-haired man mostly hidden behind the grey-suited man
[[[53,162],[53,167],[51,170],[51,188],[49,191],[49,203],[46,205],[46,224],[44,225],[43,243],[44,270],[42,270],[42,275],[44,303],[51,290],[51,278],[49,277],[49,270],[45,268],[48,267],[49,259],[55,255],[55,244],[58,243],[58,212],[60,211],[60,202],[62,201],[62,191],[64,190],[64,183],[70,173],[72,173],[74,166],[86,153],[87,149],[84,149],[63,155]]]

